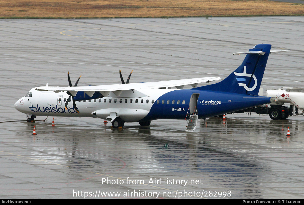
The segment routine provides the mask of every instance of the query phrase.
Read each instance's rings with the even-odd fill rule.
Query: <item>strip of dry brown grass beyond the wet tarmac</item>
[[[304,15],[304,5],[267,0],[0,0],[1,18]]]

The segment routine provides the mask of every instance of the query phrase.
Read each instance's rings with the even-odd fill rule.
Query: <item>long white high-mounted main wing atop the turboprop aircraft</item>
[[[38,91],[54,91],[59,93],[61,91],[69,91],[73,96],[76,96],[78,91],[84,91],[88,96],[92,97],[95,92],[100,92],[103,96],[107,97],[109,92],[112,91],[114,94],[119,96],[122,91],[126,90],[137,90],[140,88],[171,88],[176,87],[182,89],[185,85],[192,85],[197,87],[199,83],[209,83],[213,80],[220,80],[218,77],[204,77],[204,78],[192,78],[182,80],[168,80],[150,83],[130,83],[130,84],[113,84],[113,85],[95,85],[95,86],[77,86],[77,87],[37,87]]]

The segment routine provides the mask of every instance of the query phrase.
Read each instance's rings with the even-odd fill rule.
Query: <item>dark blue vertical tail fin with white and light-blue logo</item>
[[[271,45],[258,44],[249,49],[240,67],[219,83],[196,87],[196,90],[222,91],[257,95],[260,90]],[[260,52],[256,52],[260,51]]]

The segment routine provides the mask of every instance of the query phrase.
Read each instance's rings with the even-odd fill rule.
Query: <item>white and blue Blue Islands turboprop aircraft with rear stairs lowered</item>
[[[271,97],[257,96],[271,45],[259,44],[248,52],[243,63],[226,79],[216,84],[197,87],[199,83],[220,80],[216,77],[169,80],[151,83],[35,87],[15,103],[15,108],[28,114],[28,121],[36,116],[93,117],[112,122],[113,128],[125,122],[150,125],[156,119],[187,119],[186,131],[194,131],[198,119],[205,119],[233,111],[271,103]],[[48,85],[48,84],[47,84]],[[183,89],[192,85],[192,89]],[[172,89],[175,87],[176,89]],[[157,89],[163,88],[163,89]]]

